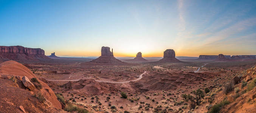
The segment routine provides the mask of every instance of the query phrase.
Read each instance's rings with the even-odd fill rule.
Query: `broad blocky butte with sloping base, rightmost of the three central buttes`
[[[173,49],[166,49],[164,51],[164,58],[162,58],[161,60],[159,60],[158,62],[180,62],[180,60],[178,60],[177,58],[175,58],[175,52]]]

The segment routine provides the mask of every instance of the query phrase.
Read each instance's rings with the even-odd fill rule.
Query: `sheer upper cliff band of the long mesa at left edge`
[[[22,46],[0,46],[0,54],[20,53],[26,55],[45,55],[45,51],[40,48],[27,48]]]

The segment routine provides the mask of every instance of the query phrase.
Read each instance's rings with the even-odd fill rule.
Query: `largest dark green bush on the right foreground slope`
[[[196,91],[193,90],[191,92],[194,96],[190,95],[190,94],[183,94],[182,98],[184,98],[186,101],[190,100],[191,102],[194,102],[195,104],[199,105],[201,102],[201,99],[203,99],[205,97],[205,94],[203,93],[202,90],[197,89]]]

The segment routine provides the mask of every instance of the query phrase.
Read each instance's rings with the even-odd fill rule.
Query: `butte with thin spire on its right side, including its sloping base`
[[[113,49],[110,51],[110,47],[101,47],[101,56],[96,58],[95,60],[90,61],[90,63],[97,64],[127,64],[118,59],[116,59],[113,55]]]

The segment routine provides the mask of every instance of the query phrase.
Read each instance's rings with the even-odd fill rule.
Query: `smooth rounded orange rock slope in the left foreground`
[[[51,105],[52,107],[55,107],[55,109],[62,108],[61,103],[57,100],[57,97],[55,96],[53,90],[51,90],[51,88],[47,84],[45,84],[45,82],[40,81],[40,79],[38,79],[33,74],[33,72],[31,72],[27,67],[23,66],[22,64],[17,63],[16,61],[5,61],[0,64],[0,75],[2,75],[2,78],[17,78],[16,79],[17,82],[10,81],[10,79],[0,78],[0,87],[2,87],[0,88],[0,92],[1,92],[0,98],[4,97],[6,100],[9,100],[14,104],[22,105],[25,108],[25,110],[30,110],[31,108],[33,108],[33,110],[39,110],[39,113],[42,113],[42,112],[45,112],[45,111],[40,111],[42,110],[42,108],[44,109],[43,107],[44,105],[40,106],[40,108],[38,109],[37,108],[38,105],[36,104],[41,105],[40,104],[41,102],[38,102],[35,104],[35,101],[38,101],[38,99],[33,97],[34,94],[41,93],[45,97],[47,102],[50,103],[49,105]],[[22,81],[20,80],[21,77],[23,77]],[[33,86],[32,85],[33,83],[31,83],[30,81],[30,79],[32,78],[36,78],[38,80],[38,82],[41,85],[40,89],[34,88],[35,86]],[[13,85],[11,85],[15,83],[17,83],[18,86],[14,87]],[[33,90],[32,89],[31,91],[25,90],[25,87],[23,86],[22,83],[25,85],[25,87],[28,87],[29,89],[31,89],[31,86],[32,86]],[[2,103],[0,102],[0,105],[1,104]],[[13,105],[14,110],[17,108],[17,105]],[[27,111],[27,112],[35,113],[36,111]],[[50,111],[50,112],[54,112],[54,111]],[[6,113],[10,113],[10,112],[6,112]],[[19,112],[15,112],[15,113],[19,113]],[[54,113],[56,113],[56,111]]]

